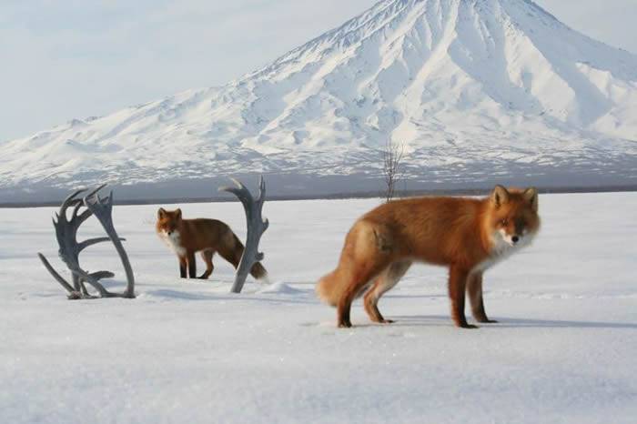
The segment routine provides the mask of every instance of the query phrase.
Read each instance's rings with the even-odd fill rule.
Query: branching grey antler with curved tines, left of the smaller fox
[[[97,187],[83,198],[77,198],[86,189],[77,190],[71,196],[66,197],[64,203],[60,207],[59,212],[53,219],[53,226],[56,228],[57,244],[59,245],[58,256],[66,264],[71,271],[73,285],[69,284],[65,278],[60,276],[55,268],[51,266],[44,255],[38,253],[38,257],[45,265],[45,268],[56,278],[56,281],[65,288],[68,298],[96,298],[91,296],[86,290],[85,283],[88,283],[96,289],[99,296],[97,298],[135,298],[135,277],[130,267],[130,262],[126,255],[126,250],[122,246],[124,238],[117,236],[115,227],[113,227],[112,211],[113,211],[113,193],[111,192],[106,198],[101,198],[97,194],[106,185]],[[70,219],[67,216],[67,209],[73,207]],[[86,207],[80,213],[80,208]],[[89,238],[81,243],[77,242],[77,230],[92,215],[95,215],[102,227],[106,231],[108,237]],[[117,254],[122,260],[122,265],[126,270],[126,290],[124,293],[111,293],[99,282],[102,278],[113,278],[115,275],[109,271],[97,271],[93,273],[86,272],[79,265],[79,254],[86,248],[97,243],[111,241],[115,247]]]

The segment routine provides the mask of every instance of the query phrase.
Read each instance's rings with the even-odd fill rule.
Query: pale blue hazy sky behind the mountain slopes
[[[375,0],[0,0],[0,141],[218,86]],[[637,53],[637,0],[537,0]]]

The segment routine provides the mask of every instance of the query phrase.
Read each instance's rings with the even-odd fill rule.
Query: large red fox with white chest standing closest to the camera
[[[413,262],[448,266],[451,318],[476,328],[464,315],[465,290],[473,317],[487,318],[482,272],[527,246],[540,228],[538,191],[497,186],[484,199],[421,197],[389,202],[360,217],[349,230],[339,266],[319,281],[319,298],[338,308],[339,327],[351,327],[349,309],[365,294],[365,311],[374,322],[379,298],[393,288]]]

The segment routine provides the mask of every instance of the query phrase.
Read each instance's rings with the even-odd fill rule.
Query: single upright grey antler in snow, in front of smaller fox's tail
[[[252,266],[263,260],[263,253],[258,251],[258,243],[261,236],[266,232],[269,226],[268,219],[261,217],[263,203],[266,201],[266,182],[260,177],[258,183],[258,197],[255,200],[252,194],[238,180],[230,178],[235,183],[235,187],[220,187],[219,191],[227,191],[238,197],[246,211],[246,220],[248,222],[248,236],[246,237],[246,248],[241,256],[241,261],[237,268],[235,282],[232,285],[233,293],[241,293],[243,285],[248,278],[248,274]]]

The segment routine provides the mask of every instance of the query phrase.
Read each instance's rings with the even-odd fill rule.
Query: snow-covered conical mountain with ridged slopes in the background
[[[227,86],[5,143],[0,194],[254,173],[289,194],[379,187],[388,140],[410,188],[636,183],[637,56],[529,0],[383,0]]]

